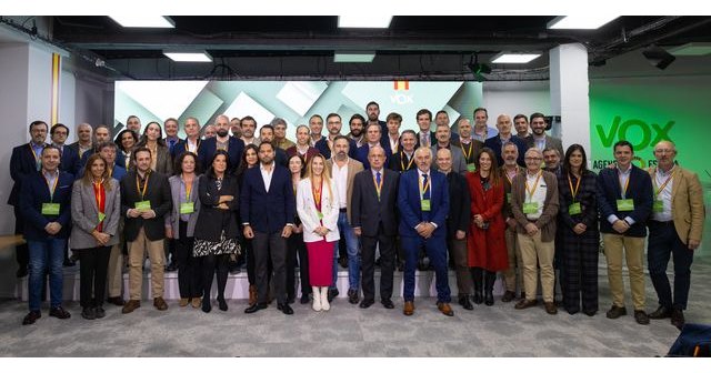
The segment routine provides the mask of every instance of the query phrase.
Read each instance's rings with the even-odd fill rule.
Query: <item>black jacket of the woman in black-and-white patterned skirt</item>
[[[199,193],[201,206],[196,223],[194,238],[219,242],[222,231],[227,238],[239,236],[236,212],[240,205],[240,191],[237,177],[227,173],[222,179],[222,188],[218,190],[216,180],[206,174],[200,178]],[[218,209],[221,195],[234,196],[232,201],[227,202],[230,210]]]

